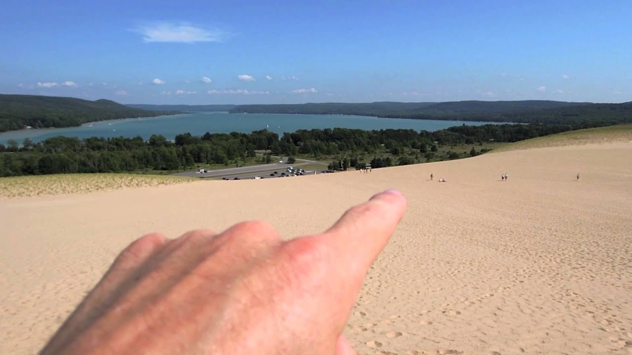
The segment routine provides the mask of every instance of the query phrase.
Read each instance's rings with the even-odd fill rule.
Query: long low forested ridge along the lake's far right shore
[[[365,104],[241,105],[230,112],[286,114],[355,114],[408,119],[447,119],[516,123],[569,124],[576,122],[632,122],[632,102],[459,101],[372,102]]]

